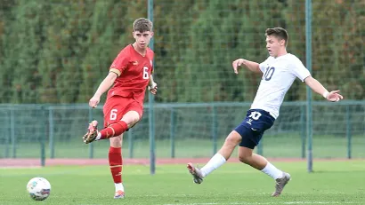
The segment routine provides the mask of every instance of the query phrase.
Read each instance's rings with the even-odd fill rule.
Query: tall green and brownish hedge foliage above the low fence
[[[265,28],[287,28],[288,51],[305,63],[304,0],[154,3],[158,102],[251,101],[260,76],[234,75],[231,61],[264,61]],[[346,99],[365,97],[363,8],[363,0],[312,2],[312,75]],[[1,0],[0,103],[87,102],[134,42],[139,17],[147,1]],[[305,99],[300,84],[286,100]]]

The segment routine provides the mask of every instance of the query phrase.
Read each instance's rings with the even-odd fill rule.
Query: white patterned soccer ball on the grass
[[[51,184],[44,177],[34,177],[29,180],[27,191],[33,200],[43,201],[51,193]]]

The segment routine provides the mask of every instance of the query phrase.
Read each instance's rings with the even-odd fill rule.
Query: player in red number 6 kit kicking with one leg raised
[[[121,154],[123,133],[141,120],[146,88],[149,87],[152,94],[158,89],[152,77],[154,53],[148,47],[153,35],[152,22],[140,18],[134,20],[133,28],[135,42],[119,52],[109,74],[89,101],[89,106],[96,107],[101,95],[112,86],[103,106],[104,129],[97,130],[98,122],[93,121],[83,137],[86,144],[110,139],[109,162],[116,187],[115,199],[125,197]]]

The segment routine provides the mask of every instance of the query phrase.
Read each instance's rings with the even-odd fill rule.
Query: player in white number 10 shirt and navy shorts
[[[247,59],[236,59],[232,62],[236,74],[239,66],[245,66],[255,73],[262,74],[261,83],[246,118],[231,131],[218,153],[201,169],[188,163],[187,168],[196,184],[202,183],[204,177],[222,166],[231,157],[234,148],[239,145],[239,161],[272,177],[275,180],[275,191],[272,196],[279,196],[290,180],[290,175],[277,169],[263,156],[254,154],[253,151],[263,137],[264,130],[270,129],[279,116],[286,92],[298,77],[312,91],[319,93],[328,101],[336,102],[343,99],[339,91],[328,92],[311,76],[300,59],[287,52],[288,32],[284,28],[267,28],[265,35],[266,49],[270,57],[263,63],[258,64]]]

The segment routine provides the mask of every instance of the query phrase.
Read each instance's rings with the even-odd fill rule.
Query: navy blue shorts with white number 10
[[[248,110],[245,120],[234,129],[242,137],[239,146],[254,149],[263,137],[264,131],[271,128],[274,121],[275,118],[269,112],[261,109]]]

